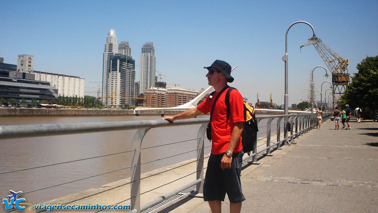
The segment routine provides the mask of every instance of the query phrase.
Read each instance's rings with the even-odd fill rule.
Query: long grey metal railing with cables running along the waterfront
[[[330,116],[331,116],[331,113],[323,114],[324,120]],[[282,120],[282,118],[285,118],[285,117],[287,118],[287,121],[288,121],[287,125],[285,125]],[[254,141],[254,150],[251,153],[251,155],[250,156],[245,155],[245,157],[243,158],[244,165],[246,163],[259,164],[259,162],[257,161],[257,158],[259,156],[262,156],[262,155],[271,156],[271,152],[273,149],[281,149],[281,146],[285,144],[290,145],[290,142],[293,141],[295,138],[297,138],[298,136],[302,135],[305,132],[308,132],[309,130],[311,130],[311,128],[316,127],[316,114],[261,115],[261,116],[256,116],[256,119],[258,123],[260,123],[260,121],[264,119],[267,120],[267,123],[265,126],[259,125],[260,130],[266,127],[266,134],[263,132],[258,133],[258,136],[260,135],[262,137],[259,136],[259,138],[256,141]],[[121,186],[124,186],[124,185],[130,184],[130,188],[131,188],[130,197],[126,200],[122,200],[121,202],[118,202],[117,204],[130,200],[130,205],[132,209],[130,212],[139,213],[162,202],[163,200],[168,199],[169,197],[172,197],[180,193],[181,191],[187,190],[189,188],[194,188],[194,186],[195,186],[194,194],[201,195],[203,193],[204,159],[207,158],[207,157],[204,157],[204,149],[208,148],[208,147],[204,147],[204,138],[205,138],[204,135],[205,135],[206,126],[208,122],[209,122],[209,118],[193,118],[193,119],[186,119],[186,120],[178,120],[175,122],[170,122],[170,121],[165,121],[165,120],[154,120],[154,121],[151,120],[151,121],[94,122],[94,123],[78,123],[78,124],[12,125],[12,126],[0,126],[0,139],[25,138],[25,137],[29,138],[29,137],[37,137],[37,136],[67,135],[67,134],[75,134],[75,133],[93,133],[93,132],[105,132],[105,131],[114,131],[114,130],[137,129],[134,135],[134,138],[132,140],[132,145],[131,145],[130,150],[108,154],[108,155],[116,155],[116,154],[125,153],[125,152],[133,152],[131,165],[126,166],[121,169],[114,170],[114,171],[109,171],[102,174],[96,174],[96,175],[92,175],[89,177],[85,177],[85,178],[81,178],[81,179],[77,179],[77,180],[73,180],[69,182],[59,183],[57,185],[46,186],[46,187],[39,188],[36,190],[27,191],[27,192],[24,192],[24,194],[34,192],[34,191],[44,190],[44,189],[51,188],[54,186],[76,182],[79,180],[88,179],[88,178],[103,175],[103,174],[108,174],[110,172],[115,172],[122,169],[131,168],[130,182],[121,185]],[[172,127],[172,126],[181,126],[181,125],[195,125],[195,124],[201,124],[200,128],[198,129],[197,138],[192,139],[192,140],[197,140],[197,149],[190,150],[184,153],[196,152],[196,159],[193,161],[190,161],[189,163],[180,165],[178,167],[185,166],[190,163],[197,163],[196,170],[184,176],[184,177],[187,177],[189,175],[196,174],[196,179],[193,182],[187,183],[186,185],[176,190],[173,190],[172,192],[164,196],[159,197],[158,199],[152,200],[151,202],[148,202],[147,204],[141,205],[141,202],[140,202],[141,180],[147,178],[147,177],[141,178],[141,165],[152,162],[152,161],[148,161],[145,163],[141,163],[141,150],[142,150],[141,145],[142,145],[144,136],[151,128]],[[274,129],[272,129],[272,127]],[[283,137],[281,136],[282,133],[283,133]],[[273,136],[276,136],[276,140],[272,139]],[[260,143],[259,146],[257,146],[257,141],[259,141]],[[176,143],[182,143],[182,142],[186,142],[186,141],[180,141]],[[163,144],[159,146],[166,146],[170,144],[175,144],[175,143],[168,143],[168,144]],[[262,146],[263,146],[262,149],[257,150],[259,147],[262,147]],[[157,147],[157,146],[153,146],[153,147]],[[152,148],[152,147],[146,147],[143,149],[149,149],[149,148]],[[178,155],[181,155],[184,153],[180,153]],[[101,156],[91,157],[91,158],[104,157],[108,155],[101,155]],[[173,155],[173,156],[176,156],[176,155]],[[173,156],[169,156],[166,158],[170,158]],[[166,158],[161,158],[157,160],[163,160]],[[40,167],[45,167],[45,166],[54,166],[57,164],[65,164],[65,163],[87,160],[87,159],[90,159],[90,158],[0,172],[0,180],[1,180],[2,174],[6,174],[10,172],[35,169],[35,168],[40,168]],[[153,160],[153,161],[157,161],[157,160]],[[177,169],[178,167],[172,168],[172,169]],[[167,171],[170,171],[172,169],[169,169]],[[159,172],[159,173],[150,175],[148,177],[152,177],[154,175],[161,174],[161,173],[163,172]],[[183,179],[184,177],[180,177],[177,180]],[[177,180],[174,180],[172,182],[175,182]],[[156,188],[153,188],[152,190],[149,190],[149,191],[153,191],[157,188],[168,185],[172,182],[157,186]],[[114,190],[115,188],[118,188],[118,187],[120,186],[116,186],[114,188],[104,190],[101,193],[104,193],[105,191],[109,191],[109,190]],[[147,193],[149,191],[145,191],[144,193]],[[99,193],[96,193],[96,194],[99,194]],[[94,196],[96,194],[93,194],[91,196]],[[90,196],[86,196],[85,198],[87,197],[90,197]],[[81,199],[84,199],[84,198],[81,198]],[[77,199],[77,200],[81,200],[81,199]],[[74,200],[74,201],[77,201],[77,200]],[[74,201],[71,201],[69,203],[72,203]],[[113,205],[117,205],[117,204],[113,204]]]

